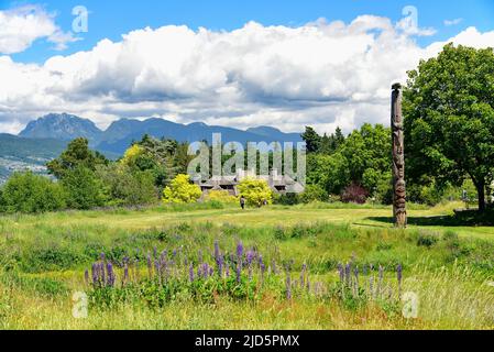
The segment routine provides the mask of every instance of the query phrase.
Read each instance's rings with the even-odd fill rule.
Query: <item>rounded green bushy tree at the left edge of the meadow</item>
[[[4,212],[45,212],[66,207],[66,194],[59,184],[31,172],[14,173],[1,191]]]

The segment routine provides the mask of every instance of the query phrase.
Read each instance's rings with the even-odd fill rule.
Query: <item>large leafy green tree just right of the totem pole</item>
[[[485,209],[494,174],[494,52],[452,44],[408,73],[407,172],[460,185],[470,177]]]

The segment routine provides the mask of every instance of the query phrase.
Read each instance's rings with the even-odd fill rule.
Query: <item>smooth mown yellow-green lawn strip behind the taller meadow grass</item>
[[[461,237],[472,237],[494,241],[494,227],[472,227],[448,223],[453,210],[463,204],[427,208],[411,206],[408,209],[408,228],[425,229],[438,232],[453,230]],[[392,229],[392,208],[385,206],[326,205],[312,206],[271,206],[262,209],[241,211],[235,206],[224,209],[201,209],[207,207],[151,208],[143,210],[107,210],[107,211],[67,211],[43,216],[10,216],[0,220],[0,230],[31,232],[39,227],[80,227],[102,226],[110,229],[143,230],[183,222],[215,222],[216,224],[235,223],[245,227],[295,226],[314,222],[349,224],[352,228]]]

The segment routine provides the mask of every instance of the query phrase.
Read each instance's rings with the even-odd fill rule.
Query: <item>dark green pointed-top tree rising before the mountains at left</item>
[[[87,139],[79,138],[72,141],[61,156],[48,162],[46,166],[52,175],[63,179],[67,173],[79,166],[95,170],[98,165],[108,165],[108,163],[109,161],[101,153],[89,148]]]

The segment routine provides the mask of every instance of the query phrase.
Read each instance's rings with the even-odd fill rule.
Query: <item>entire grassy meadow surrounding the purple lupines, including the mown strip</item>
[[[494,329],[494,228],[451,222],[449,217],[459,207],[411,206],[405,231],[393,229],[391,208],[381,206],[240,211],[197,205],[2,217],[0,328]],[[212,299],[197,299],[186,285],[155,306],[141,288],[135,294],[129,285],[124,293],[131,298],[105,306],[90,295],[88,317],[73,317],[73,293],[91,292],[84,272],[101,252],[116,263],[124,256],[141,260],[132,274],[138,282],[146,276],[145,254],[154,248],[180,249],[197,262],[198,251],[208,256],[215,241],[231,252],[242,241],[262,253],[266,263],[290,263],[290,274],[281,271],[263,282],[262,289],[254,280],[255,299],[233,299],[216,290]],[[399,299],[373,299],[359,290],[358,299],[350,299],[334,290],[338,264],[348,262],[360,268],[381,265],[393,293],[389,297],[398,295],[395,268],[403,265],[400,289],[417,295],[418,317],[404,318]],[[327,288],[317,295],[294,290],[288,299],[286,277],[299,277],[304,264],[307,277]],[[122,275],[117,271],[118,279]],[[375,275],[362,276],[361,286]]]

